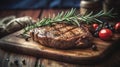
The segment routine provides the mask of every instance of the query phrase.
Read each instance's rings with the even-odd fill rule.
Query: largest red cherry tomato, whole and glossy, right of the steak
[[[99,37],[103,40],[110,40],[112,35],[113,34],[110,29],[101,29],[99,32]]]

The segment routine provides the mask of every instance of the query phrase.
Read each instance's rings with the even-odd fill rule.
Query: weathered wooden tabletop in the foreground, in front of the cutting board
[[[120,44],[118,44],[120,45]],[[14,64],[14,60],[17,58],[18,60],[25,59],[26,65],[23,65],[22,67],[27,67],[31,65],[29,62],[33,62],[32,64],[36,63],[36,65],[33,67],[120,67],[120,49],[119,47],[116,48],[116,50],[112,51],[112,55],[107,60],[104,60],[100,62],[99,64],[93,64],[93,65],[80,65],[80,64],[69,64],[69,63],[64,63],[64,62],[59,62],[59,61],[54,61],[50,59],[44,59],[44,58],[39,58],[35,59],[32,56],[27,56],[27,55],[21,55],[21,54],[15,54],[11,52],[6,52],[0,49],[0,67],[15,67],[16,64]],[[8,54],[9,53],[9,54]],[[6,59],[10,59],[8,62]],[[29,59],[32,59],[28,61]],[[34,61],[36,60],[36,61]],[[11,64],[13,62],[13,64]],[[9,66],[8,66],[9,64]],[[16,66],[18,67],[18,66]]]

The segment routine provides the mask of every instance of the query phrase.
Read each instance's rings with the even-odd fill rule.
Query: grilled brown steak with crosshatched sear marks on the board
[[[78,27],[65,23],[32,29],[30,35],[40,45],[57,49],[86,48],[93,39],[84,25]]]

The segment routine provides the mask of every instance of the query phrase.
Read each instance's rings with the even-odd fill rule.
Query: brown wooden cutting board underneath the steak
[[[25,41],[25,39],[18,37],[20,32],[18,31],[0,39],[0,47],[7,51],[32,55],[38,58],[79,64],[93,64],[103,60],[118,45],[120,40],[120,34],[114,34],[111,41],[94,38],[93,42],[98,47],[97,51],[93,51],[91,48],[59,50],[41,46],[32,40]]]

